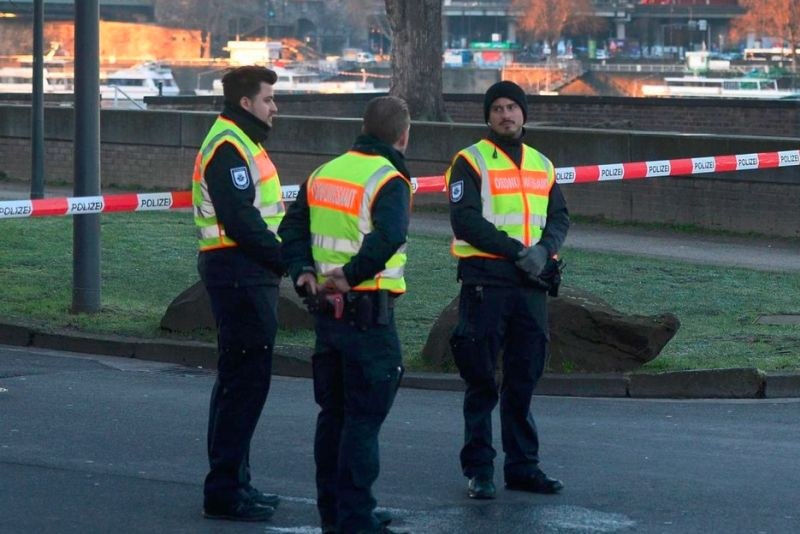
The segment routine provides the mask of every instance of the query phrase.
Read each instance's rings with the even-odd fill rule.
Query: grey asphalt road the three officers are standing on
[[[306,379],[274,379],[253,442],[254,483],[284,496],[272,522],[201,517],[212,381],[169,364],[0,346],[0,532],[318,532]],[[800,531],[800,399],[536,397],[534,407],[543,467],[565,491],[473,502],[457,461],[461,394],[401,389],[375,487],[396,527]]]

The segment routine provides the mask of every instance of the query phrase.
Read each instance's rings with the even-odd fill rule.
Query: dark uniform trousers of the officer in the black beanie
[[[539,438],[531,399],[542,375],[549,340],[547,297],[528,287],[462,285],[459,323],[451,338],[464,395],[466,477],[494,474],[492,410],[500,400],[505,480],[530,475],[539,464]],[[495,381],[502,350],[503,380]]]

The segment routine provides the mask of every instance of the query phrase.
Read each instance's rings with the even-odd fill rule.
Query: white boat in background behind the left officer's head
[[[380,93],[386,89],[375,87],[372,82],[367,81],[367,74],[358,75],[359,80],[333,81],[323,80],[322,76],[315,71],[306,69],[290,69],[285,67],[269,67],[278,75],[278,80],[273,88],[278,94],[344,94],[344,93]],[[216,79],[211,82],[211,90],[197,89],[197,95],[221,95],[222,80]]]

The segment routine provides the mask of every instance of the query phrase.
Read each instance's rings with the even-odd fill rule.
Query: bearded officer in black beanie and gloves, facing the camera
[[[524,91],[498,82],[483,105],[488,136],[460,151],[445,175],[462,282],[450,340],[467,385],[461,467],[470,498],[494,498],[491,414],[499,397],[506,488],[556,493],[563,484],[539,468],[530,403],[549,339],[546,294],[537,277],[564,242],[569,215],[553,164],[523,143]]]

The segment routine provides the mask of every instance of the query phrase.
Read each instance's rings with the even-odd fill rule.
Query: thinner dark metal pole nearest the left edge
[[[44,0],[33,2],[31,198],[44,197]]]

